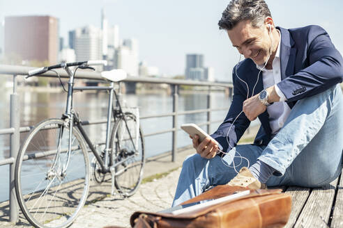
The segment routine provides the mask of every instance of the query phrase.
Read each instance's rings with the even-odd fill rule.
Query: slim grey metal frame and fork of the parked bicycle
[[[94,156],[96,157],[96,160],[98,161],[100,167],[101,167],[101,172],[102,173],[107,173],[109,172],[109,152],[111,150],[110,145],[109,145],[109,140],[110,140],[110,131],[111,131],[111,120],[112,120],[112,112],[114,116],[114,121],[116,120],[116,117],[120,117],[120,115],[123,113],[120,101],[119,101],[119,96],[116,94],[116,91],[114,90],[114,82],[111,83],[111,86],[82,86],[82,87],[74,87],[74,72],[69,69],[69,67],[64,67],[64,70],[68,73],[69,76],[69,81],[68,81],[68,97],[67,97],[67,105],[66,105],[66,112],[63,114],[63,119],[68,119],[69,122],[69,128],[70,128],[70,136],[69,136],[69,145],[68,145],[68,160],[66,163],[65,168],[63,168],[63,172],[68,168],[68,163],[70,160],[70,151],[71,151],[71,145],[72,145],[72,133],[73,133],[73,126],[77,127],[79,129],[80,133],[82,134],[84,140],[86,141],[86,144],[89,146],[91,151],[93,152]],[[107,108],[107,129],[106,129],[106,141],[105,141],[105,149],[104,149],[104,156],[105,156],[105,162],[102,160],[98,152],[96,151],[96,148],[93,146],[93,143],[87,136],[86,131],[84,131],[84,128],[82,127],[82,121],[79,120],[79,117],[76,113],[73,111],[73,92],[74,91],[83,91],[83,90],[109,90],[109,100],[108,100],[108,108]],[[116,107],[118,107],[119,111],[115,111],[113,108],[113,95],[116,97]],[[125,127],[128,129],[128,123],[125,120],[125,115],[123,115],[124,122],[125,122]],[[137,152],[137,146],[135,145],[135,142],[133,142],[132,135],[130,133],[130,130],[128,129],[128,133],[130,136],[130,140],[132,141],[132,145],[135,148],[135,151]],[[137,136],[138,137],[138,136]],[[112,164],[112,167],[115,165],[119,165],[125,161],[130,159],[130,157]]]

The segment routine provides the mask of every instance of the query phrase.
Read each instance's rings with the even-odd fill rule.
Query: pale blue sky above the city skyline
[[[275,24],[294,28],[319,24],[343,53],[341,0],[266,0]],[[183,74],[185,54],[204,54],[216,79],[229,81],[238,52],[218,20],[228,0],[0,0],[0,20],[8,15],[51,15],[59,18],[60,35],[93,24],[100,27],[100,10],[109,24],[119,25],[120,38],[139,40],[139,60],[167,75]],[[24,35],[24,34],[23,34]],[[67,40],[65,41],[67,42]]]

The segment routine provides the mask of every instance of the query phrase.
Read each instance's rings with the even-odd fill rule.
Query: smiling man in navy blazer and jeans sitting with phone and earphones
[[[275,27],[263,0],[232,0],[218,23],[245,60],[212,138],[192,139],[173,205],[218,184],[318,187],[343,167],[343,59],[320,26]],[[252,145],[236,145],[252,120]],[[238,172],[239,170],[239,172]]]

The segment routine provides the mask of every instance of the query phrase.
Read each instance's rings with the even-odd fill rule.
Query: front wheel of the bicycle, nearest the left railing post
[[[86,202],[89,157],[76,127],[68,152],[69,133],[64,120],[40,122],[17,156],[17,199],[22,213],[35,227],[68,227]]]

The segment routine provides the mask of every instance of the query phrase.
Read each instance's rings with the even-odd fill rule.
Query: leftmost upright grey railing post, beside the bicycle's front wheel
[[[20,145],[20,103],[17,95],[17,75],[13,75],[13,94],[10,95],[10,127],[15,129],[10,135],[10,157],[17,158]],[[15,162],[10,164],[10,222],[17,222],[19,207],[15,195]]]

